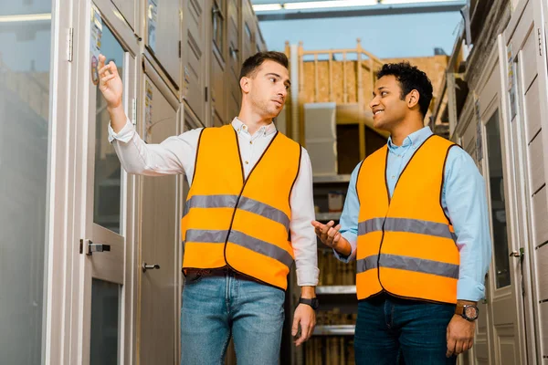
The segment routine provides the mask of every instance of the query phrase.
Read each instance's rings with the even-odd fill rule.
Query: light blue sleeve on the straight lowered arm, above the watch
[[[457,298],[485,297],[491,257],[490,221],[485,182],[469,154],[453,147],[446,162],[442,205],[457,235],[460,254]]]

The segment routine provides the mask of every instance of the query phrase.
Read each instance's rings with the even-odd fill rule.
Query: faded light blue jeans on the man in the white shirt
[[[224,364],[230,336],[238,365],[278,365],[285,292],[233,272],[188,275],[181,308],[181,364]]]

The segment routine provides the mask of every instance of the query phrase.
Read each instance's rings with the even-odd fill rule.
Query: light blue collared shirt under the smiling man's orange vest
[[[401,146],[396,146],[392,139],[388,139],[386,181],[390,196],[394,193],[395,183],[413,153],[432,134],[432,130],[428,127],[417,130],[408,135]],[[343,257],[335,252],[335,256],[343,262],[349,262],[356,256],[358,214],[360,212],[356,180],[360,165],[361,162],[352,172],[341,215],[342,236],[352,245],[352,254],[348,257]],[[452,148],[449,151],[444,173],[445,183],[441,205],[455,228],[458,252],[460,253],[457,298],[479,301],[485,297],[484,281],[489,270],[491,255],[485,182],[472,158],[460,148]]]

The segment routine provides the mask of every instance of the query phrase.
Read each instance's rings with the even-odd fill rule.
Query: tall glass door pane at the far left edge
[[[2,364],[39,364],[43,350],[51,4],[0,7]]]

